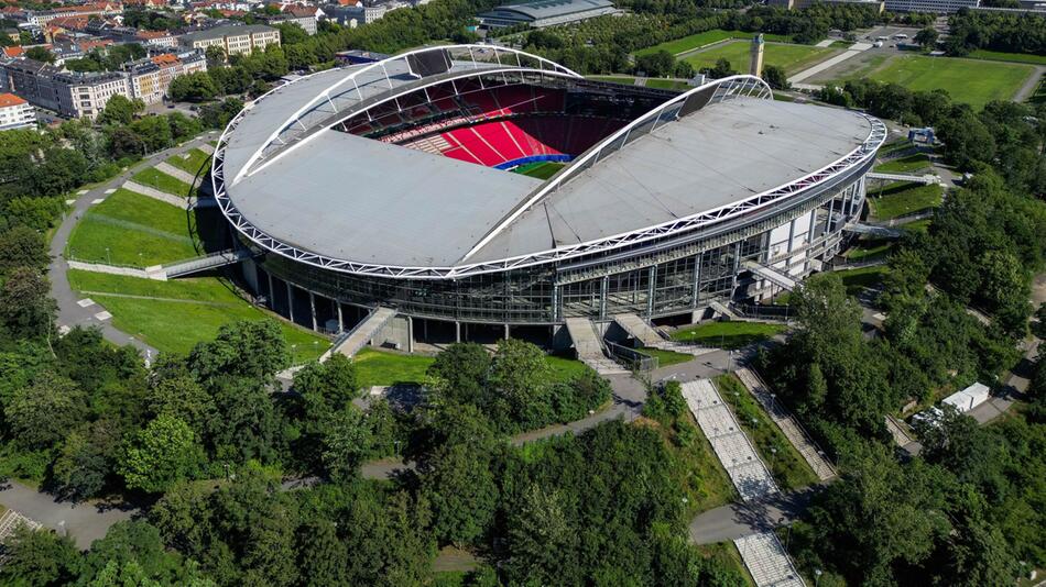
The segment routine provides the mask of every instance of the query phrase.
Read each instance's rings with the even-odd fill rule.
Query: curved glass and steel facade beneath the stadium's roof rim
[[[744,262],[780,268],[795,278],[819,268],[817,261],[835,255],[846,223],[860,213],[867,170],[700,233],[458,279],[351,275],[270,253],[258,261],[259,294],[268,295],[273,309],[288,318],[295,307],[287,301],[293,295],[281,291],[286,284],[319,298],[313,306],[386,306],[404,315],[455,322],[558,324],[566,318],[603,320],[624,312],[646,318],[682,314],[713,300],[758,298],[764,284],[744,269]],[[269,286],[271,279],[285,284]]]

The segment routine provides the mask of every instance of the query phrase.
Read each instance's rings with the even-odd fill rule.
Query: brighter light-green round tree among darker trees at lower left
[[[128,488],[151,494],[197,474],[204,451],[193,429],[173,416],[159,416],[130,443],[119,469]]]

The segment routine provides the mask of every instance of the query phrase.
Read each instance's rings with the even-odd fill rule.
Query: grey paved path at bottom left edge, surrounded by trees
[[[55,501],[52,496],[18,481],[9,481],[0,489],[0,503],[59,534],[68,533],[76,541],[76,545],[84,550],[90,547],[91,542],[105,536],[110,525],[131,519],[138,511],[135,508],[113,507],[105,502]]]

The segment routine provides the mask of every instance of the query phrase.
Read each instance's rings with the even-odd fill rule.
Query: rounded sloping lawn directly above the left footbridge
[[[79,261],[135,267],[195,257],[187,214],[121,188],[80,219],[69,237],[68,254]]]

